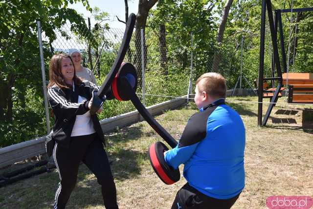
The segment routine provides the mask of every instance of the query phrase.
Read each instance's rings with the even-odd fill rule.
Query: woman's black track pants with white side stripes
[[[108,156],[96,134],[71,137],[70,147],[56,144],[53,158],[58,168],[60,183],[55,194],[54,209],[64,209],[77,181],[81,161],[97,177],[101,185],[106,209],[118,209],[116,188],[111,173]]]

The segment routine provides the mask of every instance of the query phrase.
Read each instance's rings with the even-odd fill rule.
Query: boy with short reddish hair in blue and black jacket
[[[218,73],[196,81],[195,103],[178,146],[164,153],[173,168],[184,164],[187,180],[172,209],[229,209],[245,187],[245,126],[225,104],[226,82]]]

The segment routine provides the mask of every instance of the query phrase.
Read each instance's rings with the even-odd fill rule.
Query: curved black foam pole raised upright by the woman
[[[119,67],[121,66],[121,64],[124,60],[127,48],[129,46],[129,43],[131,42],[131,38],[133,35],[135,21],[136,21],[136,15],[134,13],[131,13],[129,18],[128,18],[127,24],[126,24],[126,28],[125,28],[125,32],[124,32],[124,36],[123,36],[123,41],[122,41],[121,46],[119,48],[117,57],[116,57],[113,65],[111,67],[109,74],[106,77],[106,80],[102,83],[102,85],[98,91],[98,96],[100,98],[103,98],[104,95],[106,94],[106,92],[109,90],[109,88],[112,84],[112,81],[113,81]]]

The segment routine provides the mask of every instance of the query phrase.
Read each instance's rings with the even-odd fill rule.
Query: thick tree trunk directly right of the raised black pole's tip
[[[137,75],[138,75],[138,85],[140,86],[142,83],[141,78],[141,35],[140,35],[140,28],[143,27],[143,32],[145,32],[145,27],[147,23],[147,18],[149,15],[149,10],[156,4],[157,0],[139,0],[138,2],[138,13],[136,17],[136,23],[135,23],[135,48],[136,48],[136,54],[134,57],[134,64],[137,68]],[[145,63],[147,61],[146,59],[146,44],[144,42],[144,51],[145,51]]]

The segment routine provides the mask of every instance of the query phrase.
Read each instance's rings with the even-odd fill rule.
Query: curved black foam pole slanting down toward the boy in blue
[[[124,85],[123,89],[127,91],[127,94],[130,95],[131,101],[138,110],[138,112],[142,115],[142,117],[148,122],[148,124],[164,139],[164,141],[174,148],[177,146],[177,141],[152,117],[152,115],[148,112],[148,110],[144,107],[144,105],[140,102],[136,93],[134,92],[131,84],[128,83],[126,77],[120,78],[122,79],[121,83]]]

